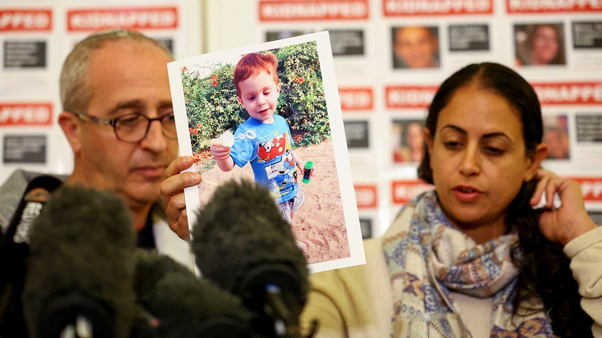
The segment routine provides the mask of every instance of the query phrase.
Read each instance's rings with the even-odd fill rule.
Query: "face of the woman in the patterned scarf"
[[[507,207],[539,166],[526,155],[517,109],[490,91],[459,88],[439,113],[435,137],[427,134],[427,147],[452,224],[477,242],[506,232]]]

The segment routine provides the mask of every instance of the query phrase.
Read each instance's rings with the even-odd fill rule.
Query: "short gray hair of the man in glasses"
[[[105,42],[115,40],[133,40],[151,43],[164,51],[172,60],[172,52],[154,38],[147,37],[140,32],[125,29],[107,29],[79,41],[67,55],[63,63],[60,78],[60,96],[63,111],[84,111],[93,94],[88,78],[90,59],[96,49],[102,48]]]

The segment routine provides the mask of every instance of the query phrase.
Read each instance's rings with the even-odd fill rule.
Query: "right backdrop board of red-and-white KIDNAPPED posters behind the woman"
[[[236,4],[240,11],[231,13]],[[207,49],[330,32],[359,212],[380,235],[403,203],[432,189],[410,156],[415,123],[460,67],[494,61],[517,70],[542,103],[544,167],[579,180],[602,210],[602,8],[563,0],[208,1]],[[230,25],[237,22],[237,25]],[[241,29],[244,27],[244,29]],[[549,41],[548,55],[534,37]],[[421,60],[402,42],[429,41]],[[540,44],[541,45],[541,44]],[[366,186],[373,190],[367,193]],[[376,203],[361,203],[376,195]],[[599,217],[596,219],[600,219]],[[368,222],[364,222],[368,224]],[[367,232],[364,232],[367,233]]]

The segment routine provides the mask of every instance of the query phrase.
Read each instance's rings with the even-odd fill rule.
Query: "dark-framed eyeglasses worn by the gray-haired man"
[[[151,129],[152,121],[161,122],[161,130],[163,135],[169,140],[178,140],[178,134],[176,133],[176,121],[171,114],[163,115],[161,117],[149,118],[144,114],[138,114],[137,112],[131,114],[125,114],[116,118],[98,117],[94,115],[88,115],[85,112],[78,112],[79,118],[85,120],[88,118],[90,121],[101,124],[102,126],[112,126],[113,131],[117,140],[126,143],[138,143],[149,134]]]

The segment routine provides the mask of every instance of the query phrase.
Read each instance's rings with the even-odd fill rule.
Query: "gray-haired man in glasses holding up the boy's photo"
[[[99,32],[73,48],[61,72],[58,117],[73,150],[73,172],[60,178],[116,192],[131,210],[138,247],[156,248],[194,269],[188,242],[169,229],[160,201],[159,185],[178,152],[170,61],[158,41],[122,29]],[[0,187],[3,233],[36,176],[17,170]]]

